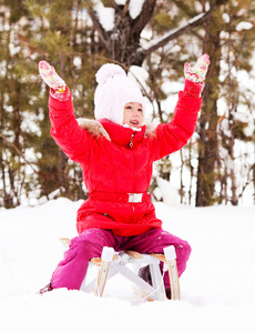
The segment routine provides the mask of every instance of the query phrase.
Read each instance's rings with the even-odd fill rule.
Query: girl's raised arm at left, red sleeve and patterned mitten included
[[[54,141],[70,159],[88,163],[94,138],[78,124],[69,88],[48,62],[39,62],[39,72],[50,87],[49,109]]]

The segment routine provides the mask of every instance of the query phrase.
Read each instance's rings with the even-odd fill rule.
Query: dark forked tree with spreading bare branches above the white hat
[[[132,64],[142,65],[144,59],[152,52],[164,47],[171,40],[178,38],[186,31],[201,26],[224,1],[226,0],[215,0],[208,11],[191,19],[185,26],[169,31],[163,37],[150,41],[145,47],[140,46],[140,37],[142,30],[153,16],[156,0],[145,0],[140,14],[135,19],[132,19],[128,12],[130,0],[125,1],[124,7],[118,6],[115,1],[112,0],[112,4],[115,9],[115,22],[111,31],[105,31],[93,4],[88,7],[88,12],[99,33],[101,42],[110,52],[111,58],[130,67]]]

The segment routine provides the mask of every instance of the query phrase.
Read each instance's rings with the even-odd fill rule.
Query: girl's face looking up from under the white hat
[[[124,107],[123,124],[130,128],[141,128],[143,125],[143,107],[140,103],[131,102]]]

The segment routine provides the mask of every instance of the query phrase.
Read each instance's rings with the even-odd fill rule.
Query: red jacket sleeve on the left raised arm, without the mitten
[[[51,135],[63,152],[74,162],[89,163],[94,138],[75,120],[72,98],[59,101],[49,98]]]

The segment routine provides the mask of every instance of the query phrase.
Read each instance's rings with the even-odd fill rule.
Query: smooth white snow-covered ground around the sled
[[[0,332],[255,332],[255,206],[156,203],[164,229],[190,242],[182,301],[137,299],[121,278],[103,299],[44,286],[75,236],[81,202],[0,210]]]

